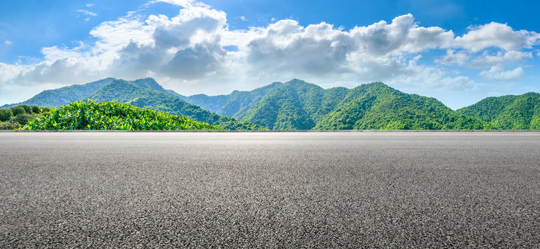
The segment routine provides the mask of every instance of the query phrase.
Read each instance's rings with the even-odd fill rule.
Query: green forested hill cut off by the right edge
[[[540,94],[485,98],[457,112],[480,118],[496,129],[540,129]]]

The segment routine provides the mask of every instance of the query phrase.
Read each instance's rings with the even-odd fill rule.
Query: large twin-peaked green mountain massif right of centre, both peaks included
[[[381,82],[322,89],[291,80],[234,115],[268,129],[490,129],[435,98],[407,94]]]

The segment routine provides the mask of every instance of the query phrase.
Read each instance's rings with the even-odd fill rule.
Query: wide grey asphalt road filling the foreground
[[[540,133],[0,133],[0,248],[540,248]]]

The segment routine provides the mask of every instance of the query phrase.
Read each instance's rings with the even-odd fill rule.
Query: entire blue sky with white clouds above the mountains
[[[381,81],[453,109],[540,92],[539,3],[366,2],[1,1],[0,105],[105,77],[184,95]]]

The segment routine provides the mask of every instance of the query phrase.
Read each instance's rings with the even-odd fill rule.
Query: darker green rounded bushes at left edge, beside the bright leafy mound
[[[17,107],[0,109],[0,129],[18,129],[34,118],[47,115],[50,109],[21,104]]]

